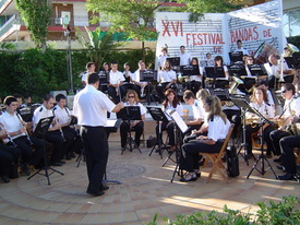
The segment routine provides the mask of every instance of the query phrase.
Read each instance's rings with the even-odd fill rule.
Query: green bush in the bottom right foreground
[[[275,204],[269,201],[269,205],[259,202],[261,210],[255,217],[252,214],[243,214],[237,210],[224,206],[224,212],[196,212],[190,215],[179,214],[175,221],[164,218],[165,225],[296,225],[300,223],[300,211],[298,210],[300,199],[298,197],[284,197],[283,202]],[[296,208],[298,205],[298,208]],[[157,213],[147,225],[157,225]]]

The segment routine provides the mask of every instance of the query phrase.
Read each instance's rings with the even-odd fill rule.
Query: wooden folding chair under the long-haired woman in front
[[[223,165],[221,157],[223,157],[223,155],[225,153],[225,149],[226,149],[226,146],[229,142],[229,139],[230,139],[230,135],[232,133],[233,127],[235,127],[235,125],[231,123],[219,153],[203,153],[203,152],[200,153],[201,155],[205,156],[205,161],[209,159],[209,161],[213,162],[213,168],[209,171],[209,175],[208,175],[208,178],[207,178],[206,182],[208,182],[212,179],[212,177],[213,177],[213,175],[215,174],[216,170],[218,170],[220,173],[221,177],[226,181],[228,181],[227,174],[226,174],[226,167]]]

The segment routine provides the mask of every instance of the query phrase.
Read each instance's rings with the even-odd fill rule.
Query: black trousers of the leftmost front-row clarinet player
[[[22,152],[24,163],[29,163],[34,166],[44,165],[44,142],[40,139],[31,137],[33,146],[31,146],[28,139],[25,135],[19,137],[13,140],[16,143],[17,149]],[[24,157],[26,159],[24,159]]]

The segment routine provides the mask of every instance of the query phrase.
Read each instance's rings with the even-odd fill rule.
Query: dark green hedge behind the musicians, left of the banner
[[[75,90],[82,88],[80,74],[85,70],[88,50],[72,52],[72,74]],[[123,71],[123,63],[131,64],[132,72],[137,69],[137,61],[142,54],[140,50],[110,50],[103,61],[119,63]],[[146,62],[153,64],[155,54],[147,50]],[[67,52],[47,49],[29,49],[24,52],[0,52],[0,96],[13,93],[22,95],[28,93],[35,100],[50,91],[68,90]]]

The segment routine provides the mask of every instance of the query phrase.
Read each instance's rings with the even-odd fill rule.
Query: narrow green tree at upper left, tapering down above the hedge
[[[15,5],[31,31],[36,47],[45,51],[52,13],[51,0],[15,0]]]

